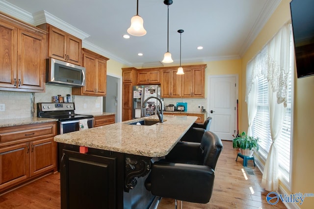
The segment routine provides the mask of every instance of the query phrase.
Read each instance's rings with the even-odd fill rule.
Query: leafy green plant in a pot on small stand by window
[[[233,147],[239,148],[241,155],[252,156],[253,148],[259,151],[259,138],[247,136],[245,132],[242,132],[233,139]]]

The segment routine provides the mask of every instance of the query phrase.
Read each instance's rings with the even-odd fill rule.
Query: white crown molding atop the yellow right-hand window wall
[[[281,0],[267,0],[259,17],[257,18],[256,23],[254,24],[247,38],[245,39],[245,43],[240,48],[239,54],[241,57],[244,55],[246,50],[249,48],[249,46],[251,46],[256,37],[259,35],[262,28],[267,23],[271,15],[274,13],[280,2]]]

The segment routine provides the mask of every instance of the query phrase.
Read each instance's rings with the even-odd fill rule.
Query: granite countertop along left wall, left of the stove
[[[44,117],[23,117],[23,118],[14,118],[14,119],[1,119],[0,127],[27,125],[27,124],[35,124],[35,123],[46,123],[46,122],[53,122],[53,121],[57,121],[57,119],[44,118]]]

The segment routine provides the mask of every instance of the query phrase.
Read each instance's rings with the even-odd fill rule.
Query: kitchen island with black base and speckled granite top
[[[196,116],[148,116],[57,135],[61,208],[147,209],[154,196],[144,181],[151,163],[167,155]],[[130,125],[150,122],[149,125]],[[156,121],[156,124],[150,125]]]

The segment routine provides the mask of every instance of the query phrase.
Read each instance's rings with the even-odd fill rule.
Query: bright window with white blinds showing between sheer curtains
[[[292,40],[292,37],[290,37]],[[280,139],[277,141],[279,175],[281,181],[290,182],[290,144],[291,144],[291,121],[292,121],[292,93],[293,93],[293,49],[290,41],[290,65],[288,72],[288,94],[287,108],[285,110],[283,128]],[[259,155],[266,161],[270,145],[272,143],[270,135],[270,119],[268,107],[268,82],[264,75],[258,76],[257,91],[257,113],[253,120],[252,135],[260,138]]]

